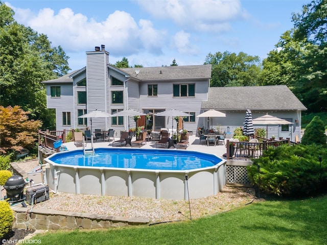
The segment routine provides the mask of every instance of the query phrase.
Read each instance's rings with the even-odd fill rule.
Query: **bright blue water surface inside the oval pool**
[[[191,170],[212,167],[222,161],[219,157],[201,152],[117,148],[95,149],[95,155],[89,156],[84,156],[83,150],[61,152],[49,160],[73,166],[152,170]]]

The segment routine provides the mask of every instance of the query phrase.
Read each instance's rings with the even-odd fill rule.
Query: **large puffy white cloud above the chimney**
[[[58,13],[44,8],[37,14],[29,9],[11,8],[17,22],[46,34],[54,46],[61,45],[66,52],[90,51],[95,45],[106,44],[112,54],[127,56],[141,50],[160,54],[167,38],[167,33],[154,29],[151,21],[136,23],[124,11],[115,11],[97,22],[70,8],[60,9]]]

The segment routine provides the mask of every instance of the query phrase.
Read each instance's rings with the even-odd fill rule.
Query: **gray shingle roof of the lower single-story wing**
[[[202,109],[307,110],[286,85],[210,87]]]

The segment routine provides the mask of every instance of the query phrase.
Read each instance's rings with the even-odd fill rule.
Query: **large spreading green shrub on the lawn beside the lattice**
[[[314,195],[327,183],[326,158],[327,149],[321,145],[268,148],[262,157],[253,159],[253,164],[248,167],[249,178],[258,186],[260,164],[260,190],[265,193],[284,197]]]

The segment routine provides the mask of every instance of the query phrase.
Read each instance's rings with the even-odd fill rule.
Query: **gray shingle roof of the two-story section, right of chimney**
[[[135,70],[139,69],[136,76]],[[133,78],[141,80],[169,80],[169,79],[210,79],[211,65],[162,66],[121,68]],[[161,72],[161,73],[160,73]]]

